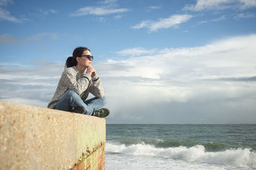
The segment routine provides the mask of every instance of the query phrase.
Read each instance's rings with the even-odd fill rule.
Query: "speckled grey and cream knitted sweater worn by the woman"
[[[69,90],[77,92],[83,101],[86,100],[89,92],[95,97],[103,97],[104,95],[104,90],[97,74],[92,77],[90,74],[80,73],[76,66],[68,67],[61,74],[56,92],[47,108],[53,109],[61,97]]]

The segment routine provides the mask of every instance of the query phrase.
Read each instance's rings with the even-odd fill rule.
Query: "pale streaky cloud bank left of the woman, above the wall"
[[[14,67],[13,64],[2,64],[0,67],[0,99],[46,107],[56,83],[63,71],[63,63],[34,62],[33,67]],[[40,65],[40,63],[42,65]]]

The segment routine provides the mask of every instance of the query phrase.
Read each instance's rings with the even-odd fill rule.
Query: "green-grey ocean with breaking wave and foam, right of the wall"
[[[107,124],[106,169],[256,169],[256,124]]]

